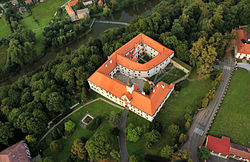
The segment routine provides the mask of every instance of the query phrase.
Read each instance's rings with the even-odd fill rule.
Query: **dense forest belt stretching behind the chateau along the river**
[[[196,67],[201,79],[206,79],[215,59],[223,56],[228,42],[235,38],[233,29],[249,24],[249,17],[249,0],[163,0],[152,15],[90,38],[79,49],[68,50],[37,72],[0,87],[0,150],[28,135],[39,139],[51,119],[69,111],[75,97],[85,102],[89,94],[87,78],[107,56],[137,34],[142,32],[171,48],[180,60]],[[35,38],[29,31],[17,32],[13,38],[9,46],[20,45],[9,48],[9,62],[22,65],[33,55]],[[32,140],[31,144],[35,146],[36,142]]]

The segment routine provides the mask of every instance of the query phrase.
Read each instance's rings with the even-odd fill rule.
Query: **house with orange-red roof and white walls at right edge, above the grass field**
[[[250,60],[250,33],[245,30],[236,30],[235,58]]]

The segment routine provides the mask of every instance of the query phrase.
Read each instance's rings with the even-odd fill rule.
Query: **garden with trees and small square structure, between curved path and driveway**
[[[118,125],[121,111],[103,101],[83,107],[57,126],[41,143],[43,159],[59,162],[89,158],[120,159]],[[80,122],[86,114],[94,119],[82,128]]]

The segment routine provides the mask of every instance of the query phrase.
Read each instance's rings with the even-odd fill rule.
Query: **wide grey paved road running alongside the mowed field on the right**
[[[191,128],[188,131],[188,141],[183,145],[182,149],[191,152],[191,158],[194,162],[198,162],[197,148],[208,131],[215,113],[223,100],[228,83],[231,78],[233,69],[233,59],[228,56],[224,59],[222,82],[216,90],[214,100],[210,102],[208,107],[200,111],[193,119]]]

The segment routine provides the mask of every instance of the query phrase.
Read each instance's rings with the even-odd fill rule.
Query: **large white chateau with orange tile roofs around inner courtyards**
[[[150,61],[138,61],[147,55]],[[95,92],[128,108],[141,117],[153,121],[161,107],[174,90],[174,84],[151,83],[152,91],[145,94],[142,87],[131,79],[145,81],[163,70],[174,56],[174,51],[164,47],[144,34],[139,34],[115,51],[108,60],[88,78],[89,86]],[[129,82],[116,78],[120,74]]]

